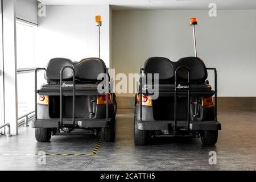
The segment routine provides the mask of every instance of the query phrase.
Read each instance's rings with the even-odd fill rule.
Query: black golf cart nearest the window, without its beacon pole
[[[47,84],[37,90],[39,70],[44,70]],[[46,68],[37,68],[35,121],[31,122],[36,140],[47,142],[51,135],[101,133],[103,140],[113,142],[117,102],[115,94],[110,93],[109,82],[108,68],[99,58],[79,62],[54,58]],[[77,132],[77,129],[89,132]]]

